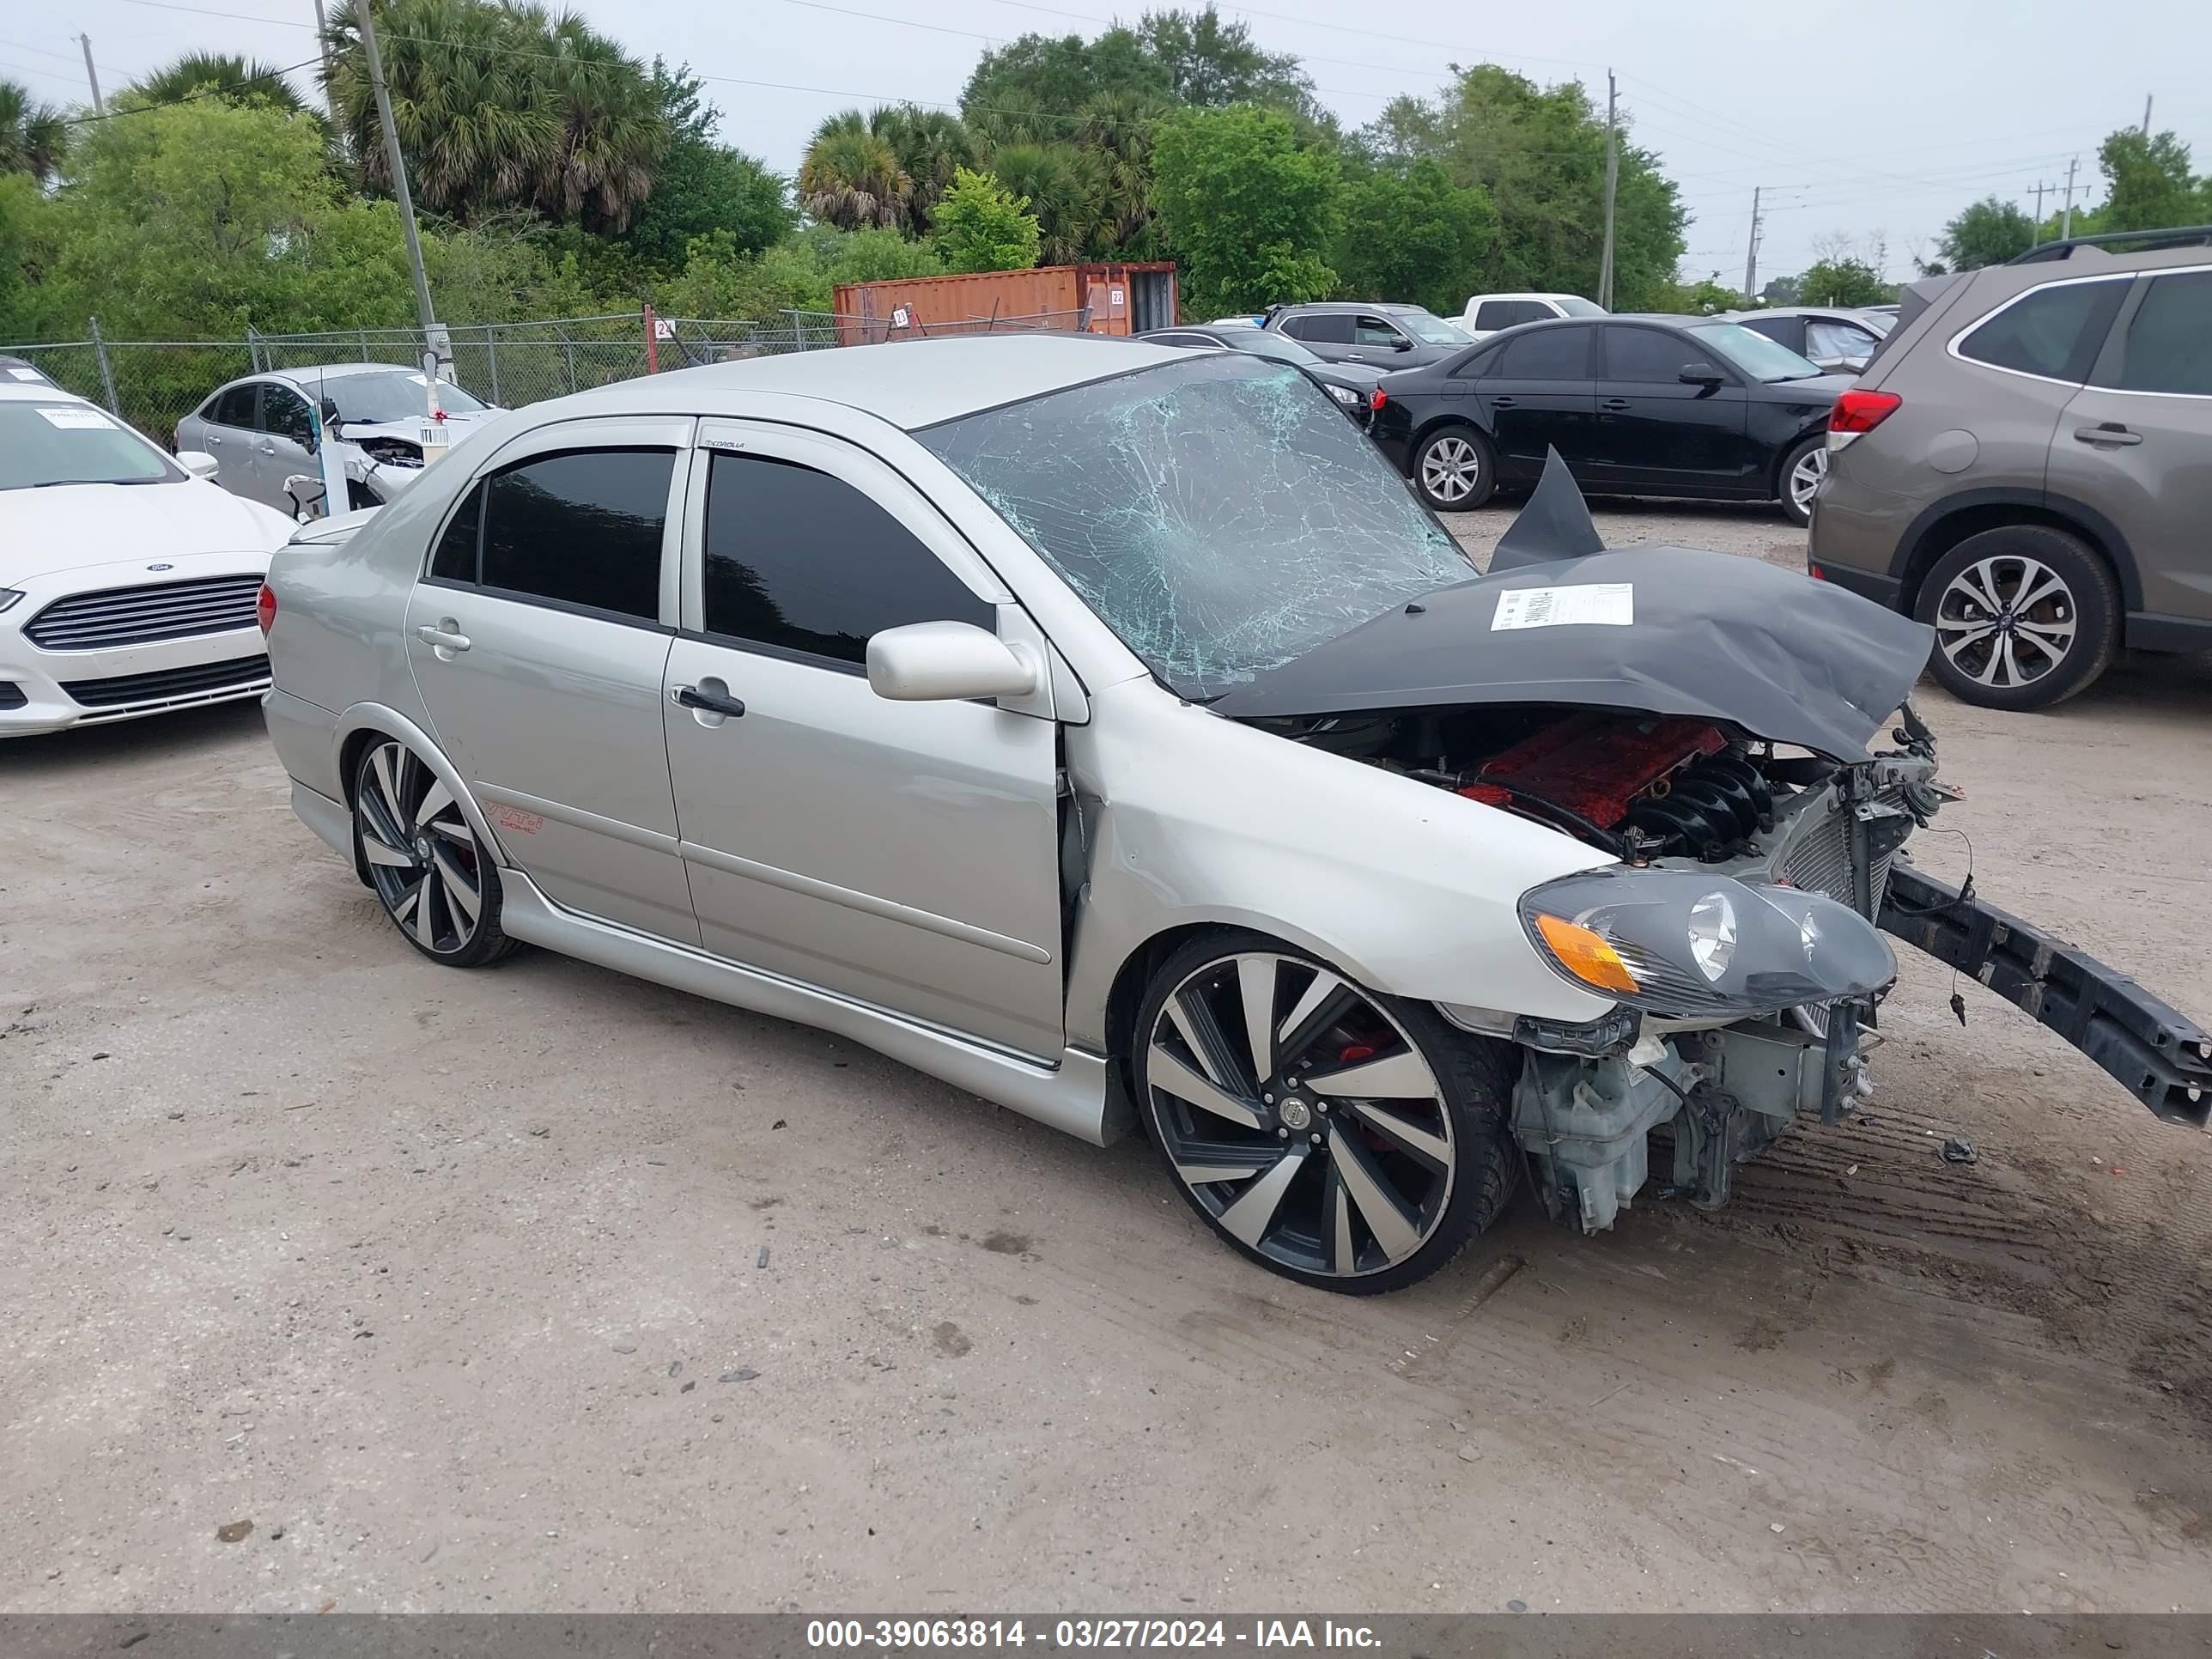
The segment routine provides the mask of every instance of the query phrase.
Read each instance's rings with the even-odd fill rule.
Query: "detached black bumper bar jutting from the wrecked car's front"
[[[2197,1128],[2212,1117],[2212,1033],[2088,951],[1902,860],[1882,931],[2035,1015],[2159,1117]]]

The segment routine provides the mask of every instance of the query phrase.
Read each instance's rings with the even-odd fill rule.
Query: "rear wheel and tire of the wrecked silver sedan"
[[[354,858],[400,936],[431,962],[489,967],[515,951],[500,931],[500,867],[420,754],[387,739],[354,768]]]

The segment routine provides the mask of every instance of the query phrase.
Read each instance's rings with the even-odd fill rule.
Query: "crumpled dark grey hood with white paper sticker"
[[[1573,491],[1564,467],[1559,478]],[[1531,531],[1542,526],[1566,549],[1595,544],[1597,533],[1582,529],[1588,513],[1575,524],[1562,507],[1546,473],[1546,489],[1524,509]],[[1500,546],[1500,564],[1511,568],[1363,622],[1210,708],[1230,719],[1449,703],[1621,708],[1723,721],[1854,761],[1911,692],[1936,644],[1924,624],[1759,560],[1639,546],[1513,564],[1528,555],[1528,538],[1509,531],[1509,542],[1515,546]],[[1615,593],[1601,606],[1628,622],[1531,624],[1546,608],[1566,615],[1571,604],[1590,602],[1575,588],[1601,584],[1628,588],[1626,602]],[[1504,599],[1542,588],[1568,597]]]

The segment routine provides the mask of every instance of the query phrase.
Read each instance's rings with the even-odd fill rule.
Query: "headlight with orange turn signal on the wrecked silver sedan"
[[[1522,894],[1553,969],[1646,1013],[1763,1013],[1880,991],[1898,960],[1849,905],[1694,869],[1606,869]]]

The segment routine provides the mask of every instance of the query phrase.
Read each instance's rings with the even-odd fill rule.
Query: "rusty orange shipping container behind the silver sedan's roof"
[[[995,327],[1144,334],[1172,327],[1175,265],[1099,263],[838,283],[841,345],[982,334]]]

